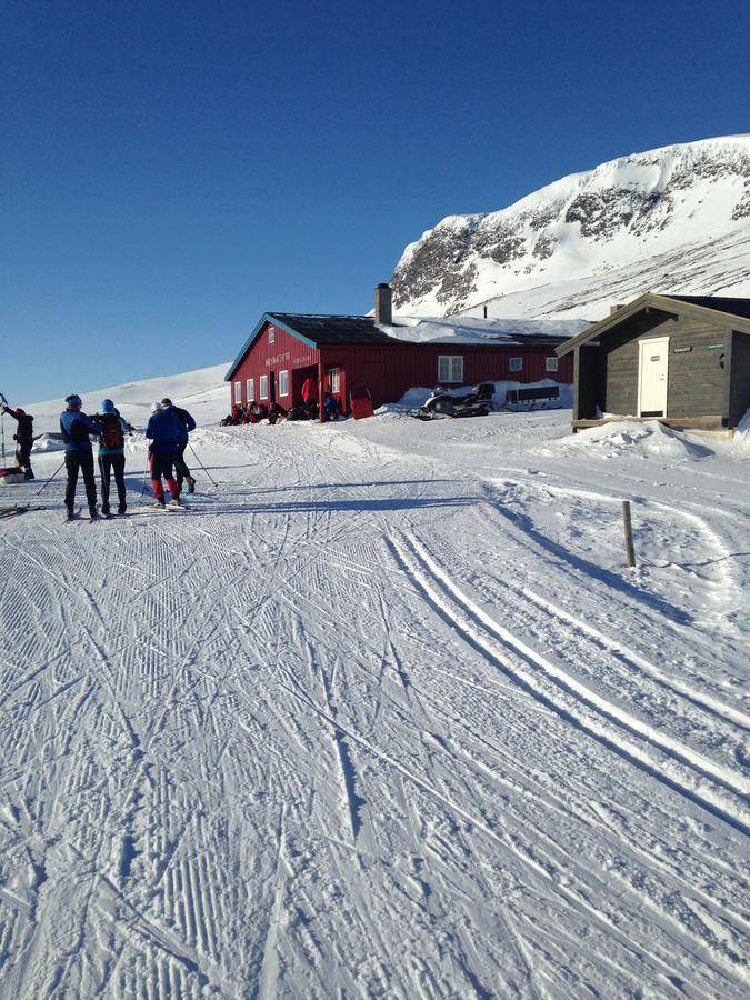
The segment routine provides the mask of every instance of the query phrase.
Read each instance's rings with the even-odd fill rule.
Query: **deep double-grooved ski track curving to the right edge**
[[[412,546],[412,558],[420,559],[423,571],[419,566],[410,562],[407,550],[403,544],[393,541],[397,558],[410,570],[419,589],[429,598],[433,607],[454,622],[456,628],[470,640],[470,643],[477,648],[482,654],[497,663],[500,669],[510,673],[511,677],[520,684],[532,691],[536,698],[543,701],[548,708],[568,718],[574,724],[579,726],[587,732],[593,734],[597,739],[604,742],[609,749],[626,757],[631,763],[634,763],[641,770],[647,770],[652,777],[663,781],[674,791],[686,796],[691,801],[702,806],[714,816],[721,817],[726,822],[738,829],[746,836],[750,836],[750,812],[746,809],[744,799],[750,791],[750,782],[740,779],[739,776],[726,768],[714,764],[701,754],[694,753],[689,748],[683,747],[677,740],[658,732],[649,726],[640,722],[637,718],[618,708],[596,692],[591,691],[584,684],[579,683],[564,672],[561,668],[553,664],[550,660],[528,647],[522,640],[508,632],[481,608],[477,607],[469,598],[467,598],[456,584],[446,576],[440,567],[438,567],[430,558],[429,553],[421,547],[416,539],[411,538],[409,542]],[[433,583],[431,583],[430,578]],[[440,592],[443,591],[443,593]],[[453,608],[451,608],[448,598],[452,599],[464,612],[468,618],[457,618]],[[478,628],[478,626],[480,628]],[[632,736],[640,738],[647,743],[657,747],[663,753],[671,758],[672,768],[678,773],[672,777],[659,761],[644,756],[643,749],[622,738],[618,738],[613,732],[611,724],[602,724],[597,722],[593,717],[587,717],[580,707],[559,704],[553,697],[546,694],[539,682],[532,673],[523,667],[516,668],[503,660],[497,651],[489,644],[487,638],[481,633],[481,627],[492,632],[510,651],[516,653],[522,661],[529,666],[539,668],[543,674],[554,683],[564,694],[572,697],[574,702],[584,704],[588,709],[593,710],[598,716],[603,717],[608,723],[614,723]],[[699,784],[696,781],[687,779],[683,772],[683,766],[691,768],[699,776]],[[731,804],[724,800],[722,796],[717,794],[713,788],[706,787],[704,778],[711,778],[713,781],[723,786],[732,796],[737,796],[741,800],[741,804],[732,802]]]

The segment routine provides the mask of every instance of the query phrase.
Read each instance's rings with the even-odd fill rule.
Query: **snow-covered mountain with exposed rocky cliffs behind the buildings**
[[[599,319],[643,291],[750,294],[750,134],[634,153],[404,250],[399,313]]]

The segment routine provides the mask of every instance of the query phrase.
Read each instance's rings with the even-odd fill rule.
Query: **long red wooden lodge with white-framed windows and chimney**
[[[409,330],[413,328],[403,327],[404,336]],[[310,377],[318,383],[319,398],[331,392],[342,413],[351,411],[352,390],[362,387],[377,408],[420,386],[542,379],[572,382],[571,358],[558,359],[554,353],[566,337],[459,343],[448,334],[443,342],[422,343],[401,340],[398,333],[388,286],[378,287],[373,317],[266,312],[224,376],[231,382],[231,402],[278,402],[286,409],[300,406],[302,382]]]

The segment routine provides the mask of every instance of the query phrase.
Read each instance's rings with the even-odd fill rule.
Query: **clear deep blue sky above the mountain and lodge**
[[[750,131],[750,4],[4,0],[0,389],[231,360],[364,312],[403,247],[614,157]]]

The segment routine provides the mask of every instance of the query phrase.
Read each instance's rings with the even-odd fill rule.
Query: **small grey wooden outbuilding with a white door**
[[[573,430],[623,417],[732,430],[750,408],[750,299],[648,292],[556,349]]]

